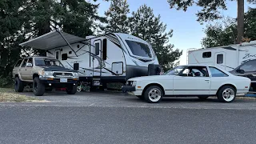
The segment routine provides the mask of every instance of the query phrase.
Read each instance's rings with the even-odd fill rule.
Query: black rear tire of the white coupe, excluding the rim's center
[[[223,92],[226,90],[233,90],[234,98],[230,98],[230,99],[224,98]],[[234,90],[234,87],[232,86],[222,86],[222,88],[220,88],[217,93],[217,98],[219,102],[233,102],[235,97],[236,97],[236,90]]]

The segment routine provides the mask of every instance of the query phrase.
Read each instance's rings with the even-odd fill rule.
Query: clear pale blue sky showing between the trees
[[[146,4],[154,10],[154,14],[161,15],[162,22],[166,23],[166,30],[174,30],[173,37],[170,38],[170,43],[174,44],[174,49],[178,48],[183,50],[183,54],[180,58],[180,64],[186,64],[186,50],[190,48],[201,48],[202,38],[205,37],[204,28],[206,24],[200,25],[197,22],[196,13],[200,10],[198,6],[190,7],[186,12],[182,10],[171,9],[167,0],[127,0],[130,6],[130,13],[138,10],[139,6]],[[98,0],[100,3],[98,10],[99,15],[104,15],[104,12],[110,7],[110,2]],[[245,6],[245,10],[248,8],[248,4]],[[227,1],[228,10],[222,10],[222,14],[236,18],[237,15],[237,3]]]

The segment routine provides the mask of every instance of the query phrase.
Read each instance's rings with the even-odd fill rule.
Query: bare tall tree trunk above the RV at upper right
[[[242,37],[244,35],[244,17],[245,17],[245,1],[238,0],[238,37],[237,43],[242,42]]]

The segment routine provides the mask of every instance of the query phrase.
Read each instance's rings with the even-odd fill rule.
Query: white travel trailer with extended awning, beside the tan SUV
[[[149,74],[149,65],[158,65],[150,44],[129,34],[112,33],[80,38],[60,30],[51,31],[20,46],[46,50],[69,69],[78,70],[79,80],[100,86]]]

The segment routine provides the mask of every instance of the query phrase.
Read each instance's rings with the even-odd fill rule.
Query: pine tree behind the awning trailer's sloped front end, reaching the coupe
[[[166,25],[161,22],[160,15],[154,16],[153,10],[146,6],[140,6],[136,12],[132,13],[130,19],[130,31],[134,36],[138,36],[150,42],[158,56],[159,63],[165,70],[170,69],[178,58],[182,55],[182,50],[174,50],[174,45],[169,43],[173,30],[166,33]]]

